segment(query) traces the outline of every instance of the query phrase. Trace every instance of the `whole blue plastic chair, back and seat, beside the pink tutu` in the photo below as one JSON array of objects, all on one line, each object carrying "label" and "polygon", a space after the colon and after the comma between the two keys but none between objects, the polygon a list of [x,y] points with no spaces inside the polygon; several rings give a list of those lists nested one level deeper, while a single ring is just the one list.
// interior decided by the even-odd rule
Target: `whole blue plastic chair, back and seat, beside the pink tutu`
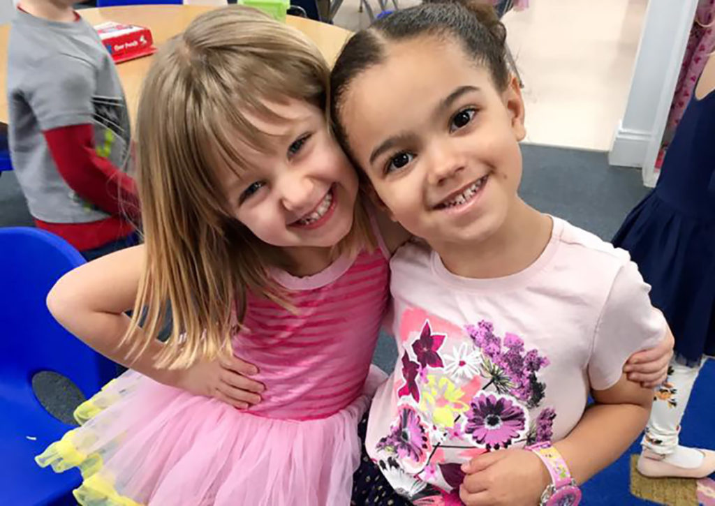
[{"label": "whole blue plastic chair, back and seat, beside the pink tutu", "polygon": [[64,239],[39,229],[0,229],[0,502],[75,504],[79,471],[41,469],[34,456],[71,429],[40,405],[32,377],[53,371],[90,397],[114,376],[114,364],[66,332],[45,298],[65,272],[84,263]]}]

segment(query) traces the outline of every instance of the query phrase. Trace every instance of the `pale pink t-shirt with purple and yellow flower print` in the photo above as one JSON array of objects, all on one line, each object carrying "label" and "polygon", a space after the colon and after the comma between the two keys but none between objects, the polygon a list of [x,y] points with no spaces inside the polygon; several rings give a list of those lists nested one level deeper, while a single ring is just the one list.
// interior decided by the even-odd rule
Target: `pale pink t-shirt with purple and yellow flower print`
[{"label": "pale pink t-shirt with purple and yellow flower print", "polygon": [[458,499],[460,465],[483,452],[563,439],[589,390],[615,385],[666,331],[628,254],[558,218],[536,262],[508,277],[455,276],[414,243],[391,268],[398,364],[366,446],[415,504]]}]

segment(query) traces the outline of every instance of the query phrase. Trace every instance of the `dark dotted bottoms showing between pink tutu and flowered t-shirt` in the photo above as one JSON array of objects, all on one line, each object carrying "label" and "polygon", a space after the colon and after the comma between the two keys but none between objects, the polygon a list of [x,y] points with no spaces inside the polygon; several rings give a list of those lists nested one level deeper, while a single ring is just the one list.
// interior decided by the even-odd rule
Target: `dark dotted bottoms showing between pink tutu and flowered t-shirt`
[{"label": "dark dotted bottoms showing between pink tutu and flowered t-shirt", "polygon": [[411,506],[412,503],[399,495],[380,471],[375,462],[370,460],[365,451],[365,432],[368,430],[368,415],[358,425],[358,435],[363,442],[360,455],[360,467],[352,475],[351,506]]}]

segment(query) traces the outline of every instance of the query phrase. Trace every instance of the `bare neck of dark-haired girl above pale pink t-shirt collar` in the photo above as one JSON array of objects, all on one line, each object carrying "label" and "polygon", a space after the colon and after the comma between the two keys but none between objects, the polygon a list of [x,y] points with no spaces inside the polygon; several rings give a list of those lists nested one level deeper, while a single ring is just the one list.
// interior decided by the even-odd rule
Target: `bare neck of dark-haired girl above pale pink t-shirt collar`
[{"label": "bare neck of dark-haired girl above pale pink t-shirt collar", "polygon": [[479,242],[433,244],[445,267],[461,277],[505,277],[529,267],[551,239],[551,218],[517,199],[504,223]]}]

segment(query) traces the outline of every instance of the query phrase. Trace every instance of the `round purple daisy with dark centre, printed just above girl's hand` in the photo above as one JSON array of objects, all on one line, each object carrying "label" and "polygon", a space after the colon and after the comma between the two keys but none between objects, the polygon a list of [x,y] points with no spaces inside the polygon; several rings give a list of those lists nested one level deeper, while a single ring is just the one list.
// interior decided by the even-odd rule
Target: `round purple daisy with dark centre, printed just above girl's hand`
[{"label": "round purple daisy with dark centre, printed just above girl's hand", "polygon": [[466,414],[465,432],[477,445],[498,450],[511,445],[526,427],[523,408],[508,397],[480,392]]}]

